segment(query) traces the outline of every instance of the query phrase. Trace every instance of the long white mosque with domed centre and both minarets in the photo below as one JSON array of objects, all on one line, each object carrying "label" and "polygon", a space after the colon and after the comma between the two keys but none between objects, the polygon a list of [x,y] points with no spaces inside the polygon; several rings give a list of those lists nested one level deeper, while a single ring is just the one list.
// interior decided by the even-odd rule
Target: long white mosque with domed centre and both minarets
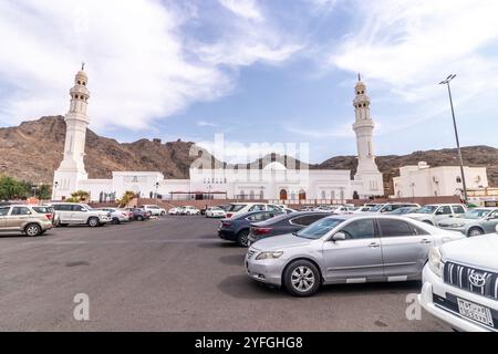
[{"label": "long white mosque with domed centre and both minarets", "polygon": [[257,170],[199,168],[193,165],[189,179],[165,179],[158,171],[115,171],[112,179],[89,179],[84,156],[90,92],[89,77],[83,70],[77,72],[71,88],[71,106],[65,115],[64,158],[54,173],[53,200],[64,200],[76,190],[87,191],[91,201],[120,198],[125,191],[134,191],[143,198],[269,199],[287,202],[344,202],[353,196],[363,199],[384,195],[383,177],[373,150],[374,122],[370,113],[370,97],[360,76],[353,102],[359,163],[354,179],[350,170],[288,168],[279,162],[270,162]]}]

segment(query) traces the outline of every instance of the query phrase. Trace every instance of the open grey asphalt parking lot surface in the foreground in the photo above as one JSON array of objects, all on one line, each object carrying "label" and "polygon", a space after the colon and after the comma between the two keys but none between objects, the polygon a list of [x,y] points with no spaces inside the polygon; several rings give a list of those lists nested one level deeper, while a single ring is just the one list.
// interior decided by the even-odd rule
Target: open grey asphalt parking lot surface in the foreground
[{"label": "open grey asphalt parking lot surface in the foreground", "polygon": [[[219,221],[166,217],[131,225],[0,237],[1,331],[448,331],[405,316],[418,282],[334,285],[297,299],[245,274],[245,250]],[[76,321],[75,294],[90,298]]]}]

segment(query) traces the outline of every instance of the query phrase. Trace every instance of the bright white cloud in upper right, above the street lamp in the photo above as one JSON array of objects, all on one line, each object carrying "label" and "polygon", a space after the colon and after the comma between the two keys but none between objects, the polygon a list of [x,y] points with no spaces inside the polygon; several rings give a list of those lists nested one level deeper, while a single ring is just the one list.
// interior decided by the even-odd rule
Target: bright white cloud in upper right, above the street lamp
[{"label": "bright white cloud in upper right, above the street lamp", "polygon": [[486,49],[498,41],[494,0],[356,1],[353,32],[329,56],[329,63],[362,72],[377,87],[387,87],[408,103],[445,94],[437,83],[459,74],[466,100],[490,83],[497,86],[498,62]]}]

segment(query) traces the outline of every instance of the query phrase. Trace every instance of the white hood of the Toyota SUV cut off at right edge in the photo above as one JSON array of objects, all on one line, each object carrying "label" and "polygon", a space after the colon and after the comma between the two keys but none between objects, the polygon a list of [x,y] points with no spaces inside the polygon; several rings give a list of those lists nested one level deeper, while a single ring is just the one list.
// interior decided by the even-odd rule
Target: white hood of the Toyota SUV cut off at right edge
[{"label": "white hood of the Toyota SUV cut off at right edge", "polygon": [[498,235],[490,233],[448,242],[440,247],[447,261],[498,271]]}]

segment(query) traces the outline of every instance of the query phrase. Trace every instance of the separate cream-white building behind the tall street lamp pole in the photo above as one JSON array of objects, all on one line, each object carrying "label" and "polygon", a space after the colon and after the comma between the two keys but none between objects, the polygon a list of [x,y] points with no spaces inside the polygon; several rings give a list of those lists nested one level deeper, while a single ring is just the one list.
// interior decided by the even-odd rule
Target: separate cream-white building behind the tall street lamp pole
[{"label": "separate cream-white building behind the tall street lamp pole", "polygon": [[[488,187],[486,167],[464,167],[467,189]],[[461,196],[463,180],[459,166],[430,167],[427,163],[400,168],[393,178],[397,198]]]}]

